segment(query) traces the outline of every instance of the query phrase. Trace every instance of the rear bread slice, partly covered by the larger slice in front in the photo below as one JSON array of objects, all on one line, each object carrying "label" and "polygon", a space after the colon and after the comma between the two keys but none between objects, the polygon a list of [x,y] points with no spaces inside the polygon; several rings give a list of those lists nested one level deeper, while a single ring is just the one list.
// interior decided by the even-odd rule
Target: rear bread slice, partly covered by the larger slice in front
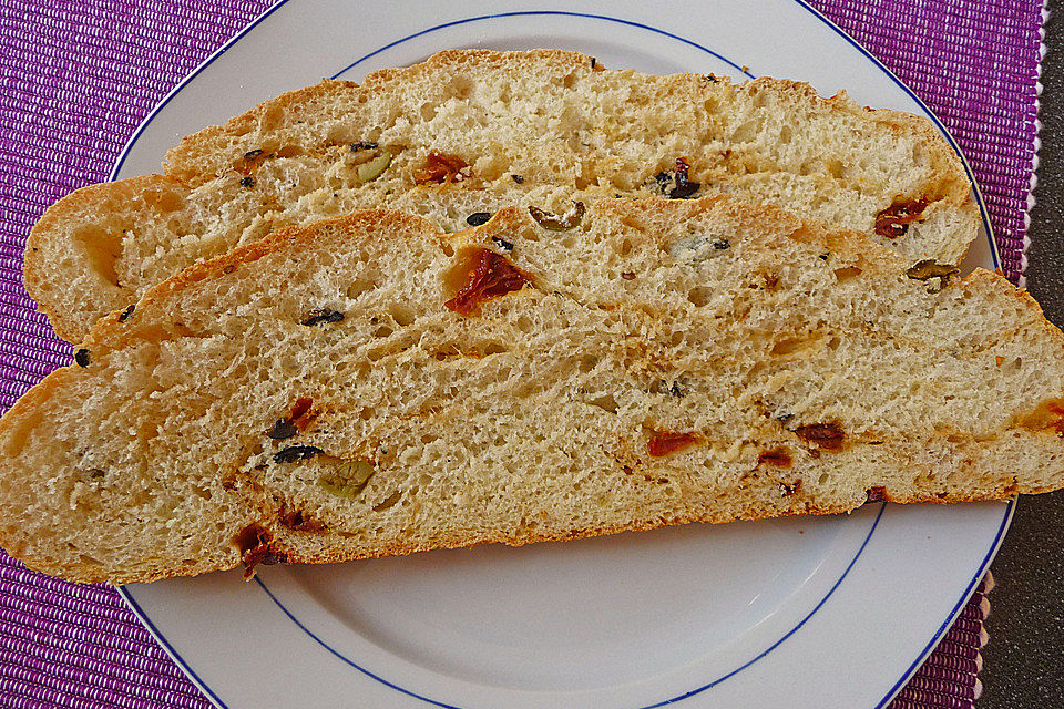
[{"label": "rear bread slice, partly covered by the larger slice in front", "polygon": [[910,261],[955,264],[978,229],[960,161],[923,119],[791,81],[456,50],[284,94],[183,140],[165,175],[73,193],[30,235],[25,284],[78,342],[152,285],[280,227],[377,207],[460,230],[509,205],[552,210],[556,187],[585,203],[735,193],[878,233]]}]

